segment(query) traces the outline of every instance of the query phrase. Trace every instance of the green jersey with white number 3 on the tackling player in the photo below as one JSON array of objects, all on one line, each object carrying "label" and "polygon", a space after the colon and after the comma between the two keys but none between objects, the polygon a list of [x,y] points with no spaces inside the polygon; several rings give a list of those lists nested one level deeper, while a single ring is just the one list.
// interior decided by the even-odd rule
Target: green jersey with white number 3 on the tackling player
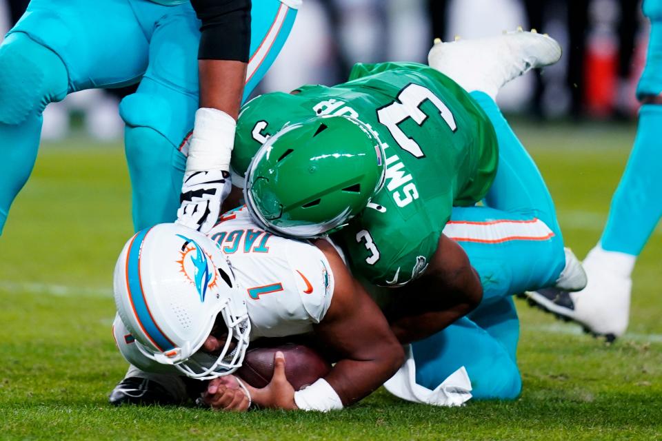
[{"label": "green jersey with white number 3 on the tackling player", "polygon": [[492,185],[498,150],[488,117],[457,83],[426,65],[357,64],[347,83],[306,85],[247,103],[237,123],[234,174],[243,176],[268,136],[316,114],[352,116],[384,146],[385,185],[334,240],[371,283],[416,278],[452,207],[474,205]]}]

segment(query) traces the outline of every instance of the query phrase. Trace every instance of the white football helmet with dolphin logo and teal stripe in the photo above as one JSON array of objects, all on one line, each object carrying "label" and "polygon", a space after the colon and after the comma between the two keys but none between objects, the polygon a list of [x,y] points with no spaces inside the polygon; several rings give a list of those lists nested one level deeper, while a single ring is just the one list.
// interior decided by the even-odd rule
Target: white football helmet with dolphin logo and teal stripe
[{"label": "white football helmet with dolphin logo and teal stripe", "polygon": [[[138,232],[117,260],[113,290],[144,356],[200,380],[241,366],[250,341],[246,305],[225,255],[204,234],[174,223]],[[221,353],[198,352],[219,323],[228,331]]]}]

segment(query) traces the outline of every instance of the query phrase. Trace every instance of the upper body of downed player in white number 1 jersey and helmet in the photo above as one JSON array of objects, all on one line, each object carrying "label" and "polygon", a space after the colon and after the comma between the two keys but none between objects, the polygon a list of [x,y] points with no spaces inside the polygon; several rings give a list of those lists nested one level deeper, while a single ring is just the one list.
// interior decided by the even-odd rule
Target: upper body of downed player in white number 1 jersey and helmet
[{"label": "upper body of downed player in white number 1 jersey and helmet", "polygon": [[[261,407],[341,409],[403,363],[387,320],[331,243],[273,236],[245,208],[208,236],[175,224],[142,230],[121,253],[114,292],[114,337],[135,367],[127,376],[172,397],[184,390],[179,376],[212,380],[205,401],[215,408],[245,410],[252,396]],[[339,356],[310,387],[295,392],[281,380],[249,393],[227,376],[251,341],[309,333]]]}]

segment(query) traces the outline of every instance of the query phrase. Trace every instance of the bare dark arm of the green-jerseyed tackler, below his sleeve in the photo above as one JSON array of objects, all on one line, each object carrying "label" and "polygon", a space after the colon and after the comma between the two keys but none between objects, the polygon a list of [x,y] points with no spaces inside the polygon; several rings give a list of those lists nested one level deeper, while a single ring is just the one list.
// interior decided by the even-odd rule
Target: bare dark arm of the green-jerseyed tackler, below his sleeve
[{"label": "bare dark arm of the green-jerseyed tackler, below his sleeve", "polygon": [[394,290],[388,312],[391,329],[405,344],[437,334],[477,307],[483,286],[456,242],[441,235],[423,277]]}]

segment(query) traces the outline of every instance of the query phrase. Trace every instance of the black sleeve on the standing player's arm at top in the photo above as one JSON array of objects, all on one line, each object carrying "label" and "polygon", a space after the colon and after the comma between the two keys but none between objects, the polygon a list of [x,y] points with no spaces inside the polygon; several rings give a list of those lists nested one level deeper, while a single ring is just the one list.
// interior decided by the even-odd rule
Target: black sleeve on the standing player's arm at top
[{"label": "black sleeve on the standing player's arm at top", "polygon": [[251,0],[191,0],[202,21],[198,59],[248,63]]}]

